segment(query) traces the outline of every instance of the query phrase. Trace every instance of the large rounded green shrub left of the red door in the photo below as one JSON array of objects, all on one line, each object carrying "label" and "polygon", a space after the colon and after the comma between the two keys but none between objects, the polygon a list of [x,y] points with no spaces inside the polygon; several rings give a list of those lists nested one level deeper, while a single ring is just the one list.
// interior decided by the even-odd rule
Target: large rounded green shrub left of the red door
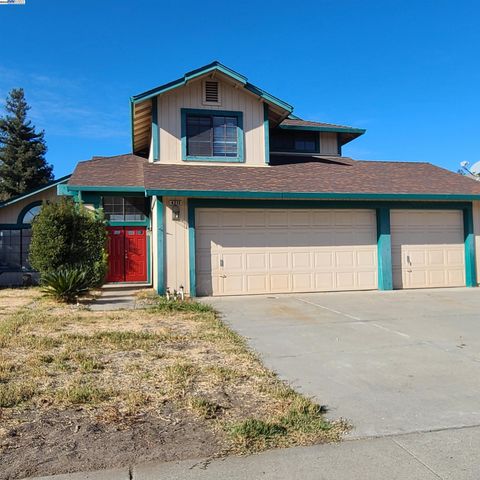
[{"label": "large rounded green shrub left of the red door", "polygon": [[58,269],[85,271],[88,286],[98,287],[107,272],[106,242],[101,212],[71,198],[45,203],[32,224],[30,264],[41,278]]}]

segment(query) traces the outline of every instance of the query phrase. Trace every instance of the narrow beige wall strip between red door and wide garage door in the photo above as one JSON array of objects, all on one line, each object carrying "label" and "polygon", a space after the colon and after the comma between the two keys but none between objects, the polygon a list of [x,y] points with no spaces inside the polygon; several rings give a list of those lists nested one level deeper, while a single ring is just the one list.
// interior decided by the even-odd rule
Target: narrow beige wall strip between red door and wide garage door
[{"label": "narrow beige wall strip between red door and wide garage door", "polygon": [[[173,220],[170,201],[181,201],[180,219]],[[165,197],[165,287],[171,291],[181,285],[190,292],[188,265],[188,200],[181,197]]]}]

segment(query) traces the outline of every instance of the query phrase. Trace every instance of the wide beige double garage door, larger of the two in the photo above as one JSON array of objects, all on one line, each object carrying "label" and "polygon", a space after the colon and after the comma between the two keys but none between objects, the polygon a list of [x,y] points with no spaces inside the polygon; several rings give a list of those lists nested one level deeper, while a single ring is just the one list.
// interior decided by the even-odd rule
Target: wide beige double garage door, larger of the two
[{"label": "wide beige double garage door, larger of the two", "polygon": [[197,209],[198,295],[377,288],[374,210]]}]

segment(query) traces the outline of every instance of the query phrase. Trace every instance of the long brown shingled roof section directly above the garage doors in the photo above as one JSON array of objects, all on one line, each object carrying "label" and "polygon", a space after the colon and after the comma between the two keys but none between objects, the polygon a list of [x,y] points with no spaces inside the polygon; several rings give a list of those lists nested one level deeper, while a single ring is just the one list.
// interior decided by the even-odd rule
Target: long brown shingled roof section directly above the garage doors
[{"label": "long brown shingled roof section directly above the garage doors", "polygon": [[145,186],[147,190],[480,195],[480,182],[430,163],[305,160],[272,167],[149,164]]}]

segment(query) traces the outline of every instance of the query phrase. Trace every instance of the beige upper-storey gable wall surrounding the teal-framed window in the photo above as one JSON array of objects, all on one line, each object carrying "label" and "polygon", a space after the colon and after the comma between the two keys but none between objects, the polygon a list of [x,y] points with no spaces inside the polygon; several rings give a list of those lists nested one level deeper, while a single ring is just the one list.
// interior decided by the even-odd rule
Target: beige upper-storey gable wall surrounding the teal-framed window
[{"label": "beige upper-storey gable wall surrounding the teal-framed window", "polygon": [[[221,105],[202,103],[203,80],[157,97],[160,139],[160,162],[185,163],[181,149],[181,109],[231,110],[243,112],[245,163],[237,165],[265,165],[265,137],[263,128],[263,102],[243,89],[220,82]],[[204,162],[190,162],[202,164]],[[222,162],[223,163],[223,162]],[[216,164],[222,164],[216,162]],[[211,162],[206,162],[211,165]],[[227,163],[232,165],[232,163]]]}]

